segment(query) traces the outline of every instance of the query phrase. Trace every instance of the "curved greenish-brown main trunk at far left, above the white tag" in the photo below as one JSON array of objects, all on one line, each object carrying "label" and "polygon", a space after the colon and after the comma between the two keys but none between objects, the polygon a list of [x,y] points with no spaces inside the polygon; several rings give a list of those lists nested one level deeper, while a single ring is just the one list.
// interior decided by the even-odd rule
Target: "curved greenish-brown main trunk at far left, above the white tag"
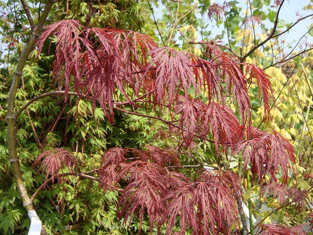
[{"label": "curved greenish-brown main trunk at far left, above the white tag", "polygon": [[[21,195],[22,203],[27,211],[27,213],[30,213],[31,211],[34,211],[33,204],[31,203],[28,193],[26,191],[26,188],[23,185],[22,180],[22,173],[20,169],[20,162],[19,158],[17,156],[17,148],[16,148],[16,116],[14,113],[15,109],[15,96],[21,81],[22,72],[25,67],[25,63],[27,61],[27,57],[29,53],[33,50],[36,40],[38,36],[41,33],[41,30],[45,24],[45,19],[47,18],[52,5],[54,4],[53,0],[48,0],[44,12],[42,14],[42,17],[40,18],[38,25],[36,28],[32,31],[32,35],[26,44],[20,60],[18,62],[16,71],[14,73],[13,81],[11,84],[10,92],[8,95],[8,108],[7,108],[7,122],[8,122],[8,151],[9,151],[9,162],[11,164],[11,169],[13,172],[14,180],[17,184],[17,188],[19,190],[19,193]],[[45,230],[42,230],[43,234],[45,233]]]}]

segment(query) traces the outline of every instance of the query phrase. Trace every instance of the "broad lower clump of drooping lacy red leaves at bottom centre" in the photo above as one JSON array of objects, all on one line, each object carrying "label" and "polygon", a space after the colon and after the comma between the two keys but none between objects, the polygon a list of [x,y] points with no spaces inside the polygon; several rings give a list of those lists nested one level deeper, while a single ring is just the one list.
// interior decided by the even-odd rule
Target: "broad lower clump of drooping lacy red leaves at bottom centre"
[{"label": "broad lower clump of drooping lacy red leaves at bottom centre", "polygon": [[166,222],[166,234],[171,234],[178,217],[181,235],[188,228],[194,229],[193,234],[204,235],[230,233],[230,224],[238,226],[238,209],[233,196],[241,193],[242,182],[238,175],[229,171],[203,171],[191,180],[169,171],[165,163],[179,163],[179,160],[169,150],[156,146],[147,150],[113,148],[106,152],[98,172],[104,188],[127,181],[118,202],[118,216],[132,218],[136,213],[141,227],[147,212],[151,233],[154,222],[158,230]]}]

